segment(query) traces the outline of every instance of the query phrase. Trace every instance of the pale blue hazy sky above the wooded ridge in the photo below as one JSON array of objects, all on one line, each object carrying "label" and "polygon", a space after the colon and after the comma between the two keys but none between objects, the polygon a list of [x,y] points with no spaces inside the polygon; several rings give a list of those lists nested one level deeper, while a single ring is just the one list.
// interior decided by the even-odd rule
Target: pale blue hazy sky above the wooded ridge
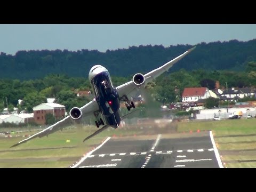
[{"label": "pale blue hazy sky above the wooded ridge", "polygon": [[0,24],[0,52],[106,50],[129,46],[249,41],[256,24]]}]

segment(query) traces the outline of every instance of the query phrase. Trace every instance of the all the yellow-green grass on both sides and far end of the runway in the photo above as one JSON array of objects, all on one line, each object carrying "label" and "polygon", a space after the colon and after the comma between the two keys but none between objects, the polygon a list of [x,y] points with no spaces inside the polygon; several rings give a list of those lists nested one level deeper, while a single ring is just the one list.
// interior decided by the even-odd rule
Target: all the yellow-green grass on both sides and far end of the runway
[{"label": "all the yellow-green grass on both sides and far end of the runway", "polygon": [[[83,139],[97,130],[94,126],[79,127],[58,131],[49,137],[36,138],[20,146],[10,148],[18,141],[24,139],[15,137],[0,138],[0,167],[68,167],[83,154],[98,146],[108,136],[126,136],[134,134],[157,134],[165,131],[158,128],[149,129],[147,126],[129,127],[130,129],[112,129],[101,132],[97,136],[83,142]],[[212,130],[214,140],[218,143],[220,155],[227,167],[256,167],[256,119],[228,119],[205,122],[179,122],[171,123],[167,129],[178,132],[197,130]],[[32,135],[36,132],[23,132],[20,135]],[[235,136],[235,137],[234,137]],[[69,140],[70,142],[67,142]],[[234,150],[254,149],[246,153],[233,153]],[[253,162],[255,160],[255,162]]]}]

